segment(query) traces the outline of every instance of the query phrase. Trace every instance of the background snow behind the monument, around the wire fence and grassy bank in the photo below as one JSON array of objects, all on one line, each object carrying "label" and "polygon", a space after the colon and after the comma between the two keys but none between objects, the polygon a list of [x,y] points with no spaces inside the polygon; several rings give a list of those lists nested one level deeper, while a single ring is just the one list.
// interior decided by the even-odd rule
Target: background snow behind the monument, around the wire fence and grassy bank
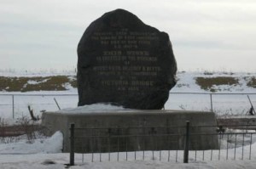
[{"label": "background snow behind the monument, around the wire fence and grassy bank", "polygon": [[[2,73],[3,74],[3,73]],[[1,75],[1,74],[0,74]],[[60,74],[57,74],[60,75]],[[68,74],[72,76],[73,74]],[[6,74],[5,76],[55,76],[52,74]],[[253,104],[256,104],[256,90],[247,86],[246,78],[256,77],[256,73],[177,73],[177,85],[172,88],[169,99],[166,102],[167,110],[211,110],[211,95],[209,91],[201,89],[195,83],[196,77],[230,76],[239,80],[239,85],[221,85],[214,87],[217,92],[212,93],[212,110],[218,115],[245,115],[251,105],[247,94]],[[194,94],[189,94],[194,93]],[[201,94],[207,93],[207,94]],[[224,94],[228,93],[228,94]],[[234,93],[238,93],[234,95]],[[246,93],[246,94],[242,94]],[[13,100],[14,99],[14,100]],[[29,115],[27,106],[30,105],[35,115],[41,115],[44,110],[58,110],[55,100],[61,109],[74,108],[79,98],[77,89],[68,87],[67,91],[35,91],[35,92],[0,92],[0,115],[5,119],[18,118]],[[13,108],[14,102],[14,108]],[[14,109],[14,111],[13,111]],[[14,113],[14,115],[13,115]]]}]

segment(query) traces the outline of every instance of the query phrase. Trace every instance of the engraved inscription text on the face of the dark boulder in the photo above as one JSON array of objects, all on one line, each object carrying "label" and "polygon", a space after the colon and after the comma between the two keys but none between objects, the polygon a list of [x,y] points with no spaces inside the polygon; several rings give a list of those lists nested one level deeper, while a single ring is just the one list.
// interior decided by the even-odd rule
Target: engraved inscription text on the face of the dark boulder
[{"label": "engraved inscription text on the face of the dark boulder", "polygon": [[115,87],[119,91],[139,91],[145,87],[154,87],[154,79],[161,69],[157,65],[158,58],[150,54],[148,47],[158,39],[152,32],[125,29],[94,32],[91,41],[99,43],[102,48],[108,48],[96,56],[96,65],[93,67],[96,75],[102,77],[102,87]]}]

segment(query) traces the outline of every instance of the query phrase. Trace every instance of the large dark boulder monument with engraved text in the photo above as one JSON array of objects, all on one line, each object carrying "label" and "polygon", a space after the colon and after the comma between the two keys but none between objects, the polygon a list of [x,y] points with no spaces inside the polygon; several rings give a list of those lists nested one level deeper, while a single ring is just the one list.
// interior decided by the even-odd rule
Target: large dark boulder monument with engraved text
[{"label": "large dark boulder monument with engraved text", "polygon": [[89,25],[78,56],[79,106],[109,103],[160,110],[176,84],[169,36],[124,9]]}]

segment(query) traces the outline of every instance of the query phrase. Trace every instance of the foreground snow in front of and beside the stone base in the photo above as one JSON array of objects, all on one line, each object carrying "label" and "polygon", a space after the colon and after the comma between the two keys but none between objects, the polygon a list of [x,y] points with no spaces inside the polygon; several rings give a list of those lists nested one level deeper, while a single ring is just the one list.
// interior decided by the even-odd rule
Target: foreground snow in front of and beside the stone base
[{"label": "foreground snow in front of and beside the stone base", "polygon": [[[229,131],[241,132],[241,131]],[[183,164],[183,151],[145,151],[126,153],[104,154],[75,154],[75,166],[73,169],[82,168],[247,168],[253,169],[256,165],[256,137],[254,131],[251,134],[237,135],[235,138],[221,139],[221,149],[205,151],[189,151],[189,164]],[[0,144],[0,168],[1,169],[40,169],[40,168],[65,168],[69,163],[69,154],[61,153],[61,132],[55,132],[50,138],[38,138],[30,142],[20,139],[17,143]],[[233,143],[234,140],[237,143]],[[241,140],[245,140],[245,146],[241,146]],[[227,149],[227,147],[229,149]],[[235,148],[236,147],[236,148]],[[251,150],[250,150],[251,149]],[[101,156],[101,158],[100,158]],[[110,161],[108,160],[110,156]],[[144,156],[144,157],[143,157]],[[119,157],[119,159],[118,159]],[[135,158],[137,159],[135,161]],[[101,161],[100,161],[101,159]]]}]

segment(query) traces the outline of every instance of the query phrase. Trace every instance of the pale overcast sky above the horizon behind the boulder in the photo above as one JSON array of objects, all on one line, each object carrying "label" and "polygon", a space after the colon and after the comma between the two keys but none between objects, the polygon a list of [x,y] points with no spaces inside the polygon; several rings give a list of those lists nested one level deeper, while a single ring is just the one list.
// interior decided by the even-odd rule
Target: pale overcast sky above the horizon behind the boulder
[{"label": "pale overcast sky above the horizon behind the boulder", "polygon": [[68,70],[90,22],[116,8],[166,31],[178,70],[256,70],[255,0],[0,0],[0,70]]}]

